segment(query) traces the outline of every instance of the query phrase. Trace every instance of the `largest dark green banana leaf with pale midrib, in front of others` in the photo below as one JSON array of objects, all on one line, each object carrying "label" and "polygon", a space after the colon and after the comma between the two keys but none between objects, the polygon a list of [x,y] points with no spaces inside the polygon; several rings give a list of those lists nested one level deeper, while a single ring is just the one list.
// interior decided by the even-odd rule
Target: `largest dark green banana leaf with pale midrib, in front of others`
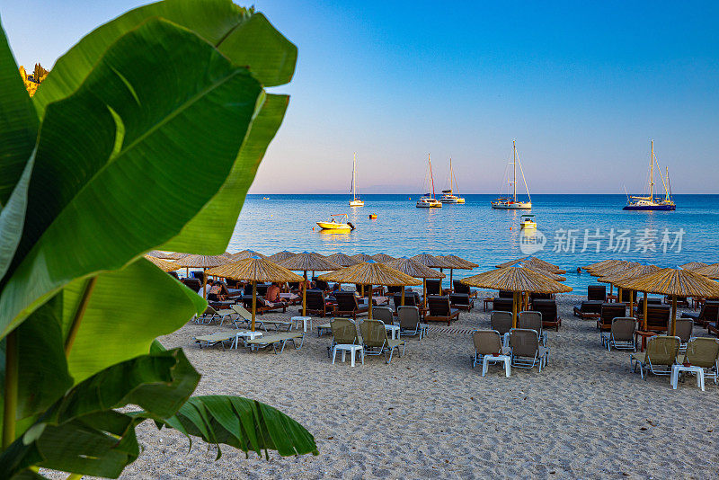
[{"label": "largest dark green banana leaf with pale midrib, in front of others", "polygon": [[225,183],[261,93],[246,69],[170,22],[149,20],[108,49],[43,120],[2,335],[68,282],[176,236]]}]

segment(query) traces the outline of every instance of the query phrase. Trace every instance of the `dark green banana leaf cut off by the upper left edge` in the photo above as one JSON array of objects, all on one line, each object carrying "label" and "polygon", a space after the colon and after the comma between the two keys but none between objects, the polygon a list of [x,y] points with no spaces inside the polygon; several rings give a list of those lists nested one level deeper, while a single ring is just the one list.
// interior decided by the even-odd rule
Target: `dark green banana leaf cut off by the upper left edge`
[{"label": "dark green banana leaf cut off by the upper left edge", "polygon": [[[15,190],[37,136],[38,116],[0,26],[0,209]],[[0,235],[4,236],[3,228]]]}]

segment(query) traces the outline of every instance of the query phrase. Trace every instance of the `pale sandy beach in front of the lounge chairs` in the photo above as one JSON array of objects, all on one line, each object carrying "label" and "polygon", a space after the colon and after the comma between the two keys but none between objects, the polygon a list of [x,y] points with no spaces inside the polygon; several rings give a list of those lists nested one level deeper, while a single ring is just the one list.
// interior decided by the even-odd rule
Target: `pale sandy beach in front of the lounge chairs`
[{"label": "pale sandy beach in front of the lounge chairs", "polygon": [[[482,294],[480,294],[480,298]],[[123,478],[707,478],[715,460],[719,387],[694,378],[672,390],[644,381],[626,351],[599,344],[593,320],[572,315],[580,297],[558,296],[563,319],[549,333],[550,362],[537,369],[471,368],[467,330],[488,328],[479,305],[451,327],[408,339],[387,365],[368,357],[332,365],[331,336],[307,333],[280,355],[198,348],[194,335],[234,329],[187,324],[160,340],[183,347],[202,374],[197,395],[247,396],[301,422],[320,455],[257,458],[190,442],[174,431],[138,429],[145,451]],[[296,312],[296,309],[292,309]],[[297,314],[295,314],[297,315]],[[265,318],[289,317],[266,314]],[[317,319],[315,319],[316,322]],[[695,335],[706,330],[695,327]]]}]

